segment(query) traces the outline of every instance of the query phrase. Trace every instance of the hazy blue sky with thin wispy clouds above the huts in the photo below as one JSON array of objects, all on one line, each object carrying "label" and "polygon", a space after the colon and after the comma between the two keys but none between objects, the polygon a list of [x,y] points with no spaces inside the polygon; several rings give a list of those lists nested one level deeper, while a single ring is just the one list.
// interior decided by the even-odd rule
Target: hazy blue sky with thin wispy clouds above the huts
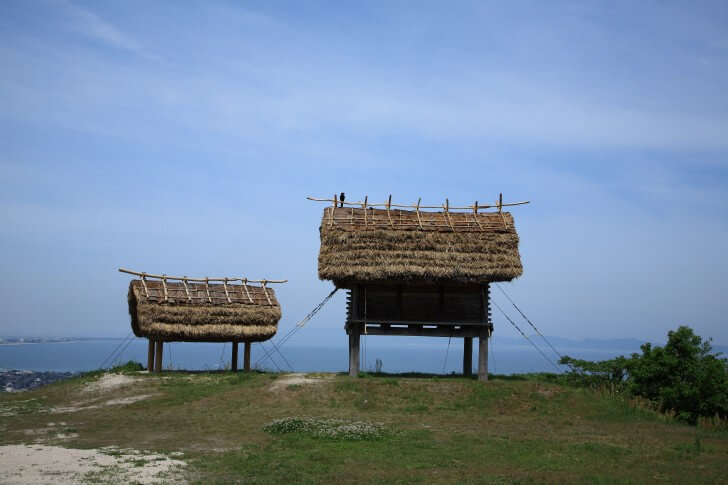
[{"label": "hazy blue sky with thin wispy clouds above the huts", "polygon": [[[728,342],[727,26],[725,2],[4,1],[0,334],[126,335],[120,266],[288,278],[285,331],[331,288],[306,196],[503,192],[532,201],[505,288],[544,333]],[[343,318],[311,325],[343,345]]]}]

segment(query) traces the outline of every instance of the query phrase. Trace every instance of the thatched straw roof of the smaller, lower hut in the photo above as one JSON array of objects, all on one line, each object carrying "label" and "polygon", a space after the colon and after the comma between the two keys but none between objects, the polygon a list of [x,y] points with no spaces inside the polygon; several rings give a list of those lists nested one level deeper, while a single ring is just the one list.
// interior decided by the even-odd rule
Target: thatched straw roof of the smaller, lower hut
[{"label": "thatched straw roof of the smaller, lower hut", "polygon": [[270,288],[189,282],[186,287],[133,280],[128,299],[134,334],[165,342],[260,342],[278,330],[281,307]]}]

